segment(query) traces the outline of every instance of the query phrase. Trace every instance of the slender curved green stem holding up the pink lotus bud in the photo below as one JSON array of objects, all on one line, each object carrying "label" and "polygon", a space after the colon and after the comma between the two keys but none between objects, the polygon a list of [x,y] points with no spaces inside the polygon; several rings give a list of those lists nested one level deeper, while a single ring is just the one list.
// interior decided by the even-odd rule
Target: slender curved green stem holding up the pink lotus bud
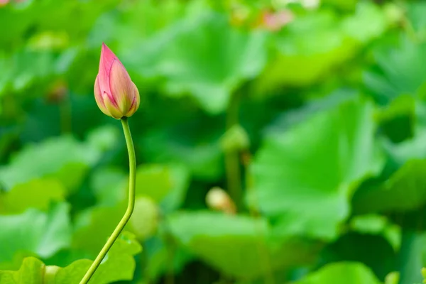
[{"label": "slender curved green stem holding up the pink lotus bud", "polygon": [[99,264],[102,262],[104,257],[107,255],[109,249],[114,244],[114,241],[119,237],[121,231],[126,226],[127,222],[133,213],[133,208],[135,207],[135,192],[136,192],[136,155],[135,148],[133,146],[133,140],[131,138],[131,133],[129,129],[129,123],[127,121],[127,117],[123,117],[121,119],[121,124],[123,124],[124,137],[126,138],[127,151],[129,152],[129,204],[127,205],[126,213],[124,213],[123,218],[114,229],[114,232],[109,237],[107,243],[102,248],[101,252],[99,252],[97,258],[90,266],[84,278],[81,280],[80,284],[87,284],[92,278],[94,272],[99,267]]}]

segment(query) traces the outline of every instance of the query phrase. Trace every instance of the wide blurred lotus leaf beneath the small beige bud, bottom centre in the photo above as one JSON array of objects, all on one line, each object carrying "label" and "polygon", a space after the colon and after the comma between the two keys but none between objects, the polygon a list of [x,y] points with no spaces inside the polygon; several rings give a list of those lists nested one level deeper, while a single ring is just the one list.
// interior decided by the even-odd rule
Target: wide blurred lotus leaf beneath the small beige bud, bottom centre
[{"label": "wide blurred lotus leaf beneath the small beige bud, bottom centre", "polygon": [[167,226],[195,256],[226,275],[241,279],[310,263],[317,251],[314,244],[303,239],[274,239],[265,219],[178,212],[168,218]]}]

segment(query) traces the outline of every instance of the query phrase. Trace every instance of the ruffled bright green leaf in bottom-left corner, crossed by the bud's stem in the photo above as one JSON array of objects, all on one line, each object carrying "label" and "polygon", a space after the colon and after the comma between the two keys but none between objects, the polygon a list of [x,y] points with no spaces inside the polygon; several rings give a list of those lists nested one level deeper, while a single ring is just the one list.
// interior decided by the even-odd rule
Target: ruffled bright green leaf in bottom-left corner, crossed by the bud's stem
[{"label": "ruffled bright green leaf in bottom-left corner, crossed by the bud's stem", "polygon": [[[94,273],[90,283],[107,284],[119,280],[131,280],[136,263],[133,258],[141,251],[141,246],[133,236],[124,232],[116,240],[104,261]],[[80,259],[65,268],[45,266],[37,258],[23,260],[18,271],[0,271],[1,284],[65,284],[80,283],[92,261]]]}]

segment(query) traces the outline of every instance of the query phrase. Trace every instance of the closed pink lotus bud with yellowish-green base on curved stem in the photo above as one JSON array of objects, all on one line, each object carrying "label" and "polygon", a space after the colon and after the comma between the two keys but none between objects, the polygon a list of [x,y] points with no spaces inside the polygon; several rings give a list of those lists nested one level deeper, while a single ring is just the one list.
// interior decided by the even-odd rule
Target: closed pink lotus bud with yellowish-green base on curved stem
[{"label": "closed pink lotus bud with yellowish-green base on curved stem", "polygon": [[132,116],[139,107],[139,92],[119,58],[102,43],[99,73],[94,81],[94,98],[107,116]]}]

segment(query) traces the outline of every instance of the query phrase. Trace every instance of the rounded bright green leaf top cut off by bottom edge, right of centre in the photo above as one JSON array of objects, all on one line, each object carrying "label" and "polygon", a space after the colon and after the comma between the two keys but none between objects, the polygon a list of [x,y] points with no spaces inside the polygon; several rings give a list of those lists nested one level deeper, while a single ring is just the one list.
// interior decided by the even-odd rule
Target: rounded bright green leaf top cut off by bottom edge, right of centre
[{"label": "rounded bright green leaf top cut off by bottom edge, right of centre", "polygon": [[362,263],[351,262],[328,264],[319,271],[310,273],[302,280],[295,282],[295,284],[324,283],[381,284],[367,266]]}]

